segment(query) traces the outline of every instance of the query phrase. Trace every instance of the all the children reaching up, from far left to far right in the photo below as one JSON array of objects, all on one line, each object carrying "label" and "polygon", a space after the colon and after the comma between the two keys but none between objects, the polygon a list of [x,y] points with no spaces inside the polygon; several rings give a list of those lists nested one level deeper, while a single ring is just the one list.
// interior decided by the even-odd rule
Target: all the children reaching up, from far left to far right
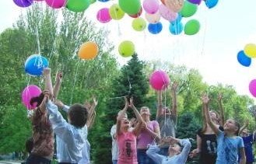
[{"label": "all the children reaching up, from far left to far right", "polygon": [[[96,117],[93,104],[75,103],[65,106],[57,100],[62,74],[56,75],[54,87],[51,82],[51,69],[44,68],[45,90],[40,96],[31,99],[30,103],[37,103],[33,110],[31,122],[33,138],[27,144],[31,148],[27,164],[48,164],[54,155],[54,134],[56,134],[57,159],[60,164],[89,164],[88,129],[92,127]],[[158,109],[156,120],[150,120],[150,110],[142,106],[138,111],[133,99],[124,97],[124,109],[117,113],[117,124],[110,131],[112,136],[113,164],[154,164],[177,163],[184,164],[188,155],[194,157],[200,154],[200,163],[252,163],[246,160],[244,147],[252,144],[253,135],[247,135],[244,127],[235,120],[226,120],[224,124],[221,96],[219,106],[221,115],[209,111],[209,97],[202,96],[204,125],[197,134],[197,148],[191,151],[189,139],[175,138],[177,131],[177,83],[171,87],[172,110],[163,106],[162,92],[158,92]],[[58,108],[68,113],[65,120]],[[131,109],[136,120],[128,120],[127,110]],[[238,136],[242,134],[244,138]],[[244,139],[244,141],[243,141]],[[249,150],[252,154],[252,150]],[[250,154],[247,153],[247,154]],[[238,159],[239,156],[239,159]]]}]

